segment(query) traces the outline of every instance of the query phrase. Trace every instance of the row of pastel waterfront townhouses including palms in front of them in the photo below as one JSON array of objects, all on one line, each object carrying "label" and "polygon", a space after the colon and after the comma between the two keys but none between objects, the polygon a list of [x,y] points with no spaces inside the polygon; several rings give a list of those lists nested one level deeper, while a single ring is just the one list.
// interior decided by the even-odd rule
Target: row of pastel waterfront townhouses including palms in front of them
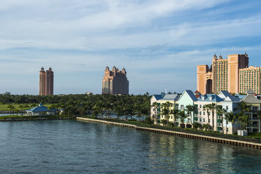
[{"label": "row of pastel waterfront townhouses including palms in front of them", "polygon": [[[231,95],[228,91],[202,95],[186,90],[177,94],[153,95],[150,99],[150,117],[155,123],[173,123],[175,126],[192,128],[204,126],[206,129],[226,134],[245,129],[248,133],[260,133],[261,100],[253,90],[246,95]],[[242,109],[247,116],[246,125],[235,115]],[[167,122],[167,123],[166,123]],[[168,125],[167,125],[168,126]]]}]

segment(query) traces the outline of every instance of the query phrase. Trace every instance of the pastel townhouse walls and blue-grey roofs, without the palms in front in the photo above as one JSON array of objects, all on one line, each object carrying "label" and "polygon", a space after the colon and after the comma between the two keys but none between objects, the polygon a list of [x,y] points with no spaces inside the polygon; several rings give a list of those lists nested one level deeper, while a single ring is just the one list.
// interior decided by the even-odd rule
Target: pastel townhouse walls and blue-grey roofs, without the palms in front
[{"label": "pastel townhouse walls and blue-grey roofs, without the palms in front", "polygon": [[[231,95],[227,91],[220,91],[218,95],[216,94],[206,94],[206,95],[195,95],[192,91],[186,90],[181,96],[176,94],[166,94],[166,95],[153,95],[150,102],[157,102],[157,119],[165,119],[162,113],[162,104],[164,102],[170,102],[171,107],[169,109],[178,109],[179,111],[184,110],[186,113],[186,106],[194,105],[195,111],[192,112],[191,116],[185,119],[185,124],[200,123],[200,124],[209,124],[210,128],[213,131],[223,131],[225,134],[237,133],[237,130],[240,129],[240,124],[237,123],[237,120],[234,123],[225,120],[225,114],[217,114],[217,109],[206,109],[205,105],[212,105],[218,108],[225,109],[226,112],[233,112],[237,114],[239,102],[246,102],[251,111],[246,113],[249,115],[250,124],[247,127],[249,133],[261,132],[261,123],[258,119],[257,112],[261,110],[261,100],[255,96],[255,92],[252,90],[247,91],[247,95]],[[153,107],[151,107],[151,112],[154,113]],[[151,114],[153,114],[151,113]],[[213,114],[213,115],[212,115]],[[223,117],[223,121],[222,121]],[[170,122],[178,121],[178,125],[181,123],[181,120],[174,120],[173,114],[169,116]],[[213,126],[213,127],[212,127]]]}]

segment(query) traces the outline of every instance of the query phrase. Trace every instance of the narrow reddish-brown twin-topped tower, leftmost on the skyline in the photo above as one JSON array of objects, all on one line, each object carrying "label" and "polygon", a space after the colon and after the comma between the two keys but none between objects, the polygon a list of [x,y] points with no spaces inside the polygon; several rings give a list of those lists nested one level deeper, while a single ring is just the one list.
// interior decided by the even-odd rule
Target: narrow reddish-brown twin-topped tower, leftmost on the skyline
[{"label": "narrow reddish-brown twin-topped tower, leftmost on the skyline", "polygon": [[39,95],[53,95],[53,72],[51,67],[46,71],[41,67],[39,73]]}]

